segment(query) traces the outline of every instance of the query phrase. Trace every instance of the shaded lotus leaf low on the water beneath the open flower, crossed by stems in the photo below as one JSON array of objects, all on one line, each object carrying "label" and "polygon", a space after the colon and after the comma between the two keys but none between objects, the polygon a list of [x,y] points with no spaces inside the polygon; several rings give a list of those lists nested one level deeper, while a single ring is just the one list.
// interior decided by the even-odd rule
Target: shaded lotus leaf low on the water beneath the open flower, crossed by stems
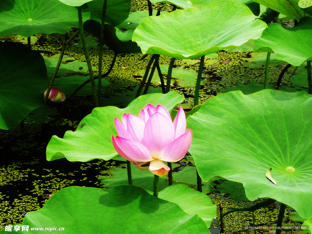
[{"label": "shaded lotus leaf low on the water beneath the open flower, crossed by stems", "polygon": [[[120,156],[114,159],[120,160]],[[125,160],[124,158],[122,158]],[[180,168],[181,165],[177,163],[172,163],[172,168],[176,171],[176,168]],[[183,166],[182,166],[183,167]],[[131,163],[131,174],[133,185],[143,188],[145,190],[153,191],[153,181],[154,174],[150,170],[139,170],[136,168],[133,163]],[[178,170],[172,174],[173,184],[185,184],[190,188],[196,188],[196,167],[184,166],[183,169]],[[110,169],[102,171],[102,174],[98,178],[101,181],[101,184],[105,188],[113,188],[118,185],[129,184],[126,164],[120,164],[119,166],[112,166]],[[167,177],[163,176],[159,178],[158,189],[163,190],[168,186]],[[207,183],[203,183],[202,186],[203,193],[212,193],[214,190],[212,186]]]}]

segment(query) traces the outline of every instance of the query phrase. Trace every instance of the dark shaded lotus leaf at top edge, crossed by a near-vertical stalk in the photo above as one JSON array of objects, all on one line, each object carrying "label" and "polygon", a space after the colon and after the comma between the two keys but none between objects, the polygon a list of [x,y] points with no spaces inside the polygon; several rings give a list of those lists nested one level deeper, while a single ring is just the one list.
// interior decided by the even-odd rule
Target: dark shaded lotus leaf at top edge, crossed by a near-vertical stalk
[{"label": "dark shaded lotus leaf at top edge, crossed by a near-vertical stalk", "polygon": [[[104,0],[89,2],[87,5],[90,10],[90,19],[102,22]],[[130,0],[107,1],[105,22],[117,26],[128,18],[130,12]]]}]

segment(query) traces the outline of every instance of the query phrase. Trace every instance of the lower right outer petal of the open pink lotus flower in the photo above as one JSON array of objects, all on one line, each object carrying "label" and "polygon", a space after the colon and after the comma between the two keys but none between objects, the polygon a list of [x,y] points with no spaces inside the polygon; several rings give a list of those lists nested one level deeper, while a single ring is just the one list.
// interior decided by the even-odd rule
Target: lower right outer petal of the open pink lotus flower
[{"label": "lower right outer petal of the open pink lotus flower", "polygon": [[161,160],[172,163],[181,160],[191,147],[192,135],[192,130],[188,129],[186,133],[171,142],[164,150]]}]

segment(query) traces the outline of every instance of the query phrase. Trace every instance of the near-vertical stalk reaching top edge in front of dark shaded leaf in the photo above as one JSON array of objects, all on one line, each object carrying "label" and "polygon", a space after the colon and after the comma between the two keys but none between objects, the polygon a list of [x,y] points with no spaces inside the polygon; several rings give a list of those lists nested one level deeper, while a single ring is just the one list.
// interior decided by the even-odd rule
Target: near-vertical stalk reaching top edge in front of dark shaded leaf
[{"label": "near-vertical stalk reaching top edge in front of dark shaded leaf", "polygon": [[101,36],[100,36],[100,49],[99,49],[99,80],[98,80],[98,102],[101,106],[101,87],[102,87],[102,58],[104,46],[104,29],[105,29],[105,15],[106,15],[107,0],[104,0],[102,21],[101,21]]}]

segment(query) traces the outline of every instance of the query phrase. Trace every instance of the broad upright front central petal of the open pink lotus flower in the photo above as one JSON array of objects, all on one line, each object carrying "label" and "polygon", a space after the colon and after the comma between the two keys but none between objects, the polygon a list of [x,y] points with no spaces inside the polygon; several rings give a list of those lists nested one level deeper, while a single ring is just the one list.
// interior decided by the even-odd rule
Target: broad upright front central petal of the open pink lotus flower
[{"label": "broad upright front central petal of the open pink lotus flower", "polygon": [[149,150],[153,158],[161,158],[163,150],[173,140],[173,123],[163,114],[156,112],[145,124],[142,143]]}]

